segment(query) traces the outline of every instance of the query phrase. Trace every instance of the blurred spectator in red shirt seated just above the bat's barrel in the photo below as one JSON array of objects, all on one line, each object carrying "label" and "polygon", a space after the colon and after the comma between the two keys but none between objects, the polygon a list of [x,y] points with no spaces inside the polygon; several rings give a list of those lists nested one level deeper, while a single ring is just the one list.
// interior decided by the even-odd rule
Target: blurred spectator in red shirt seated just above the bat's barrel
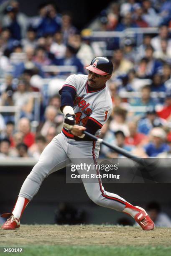
[{"label": "blurred spectator in red shirt seated just above the bat's barrel", "polygon": [[125,138],[126,145],[143,146],[148,142],[147,136],[145,136],[143,133],[138,133],[137,123],[130,121],[128,123],[128,128],[130,135]]}]

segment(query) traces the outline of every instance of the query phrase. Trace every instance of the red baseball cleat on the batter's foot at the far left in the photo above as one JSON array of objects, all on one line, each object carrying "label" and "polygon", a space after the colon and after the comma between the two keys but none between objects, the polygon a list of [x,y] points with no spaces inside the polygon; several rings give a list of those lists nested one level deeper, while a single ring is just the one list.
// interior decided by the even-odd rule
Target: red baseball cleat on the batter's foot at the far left
[{"label": "red baseball cleat on the batter's foot at the far left", "polygon": [[3,229],[15,229],[20,228],[20,220],[14,217],[12,213],[4,213],[1,215],[3,218],[8,218],[7,221],[2,225]]}]

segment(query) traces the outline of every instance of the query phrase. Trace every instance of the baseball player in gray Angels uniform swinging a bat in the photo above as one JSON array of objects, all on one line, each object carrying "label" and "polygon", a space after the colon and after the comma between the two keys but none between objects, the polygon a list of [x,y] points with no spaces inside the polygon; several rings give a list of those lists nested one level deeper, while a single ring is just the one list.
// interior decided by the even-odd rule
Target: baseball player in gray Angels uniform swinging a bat
[{"label": "baseball player in gray Angels uniform swinging a bat", "polygon": [[[106,57],[96,57],[85,67],[88,75],[70,75],[62,89],[61,110],[64,113],[64,126],[61,133],[53,138],[42,152],[37,164],[21,187],[18,200],[3,229],[20,227],[20,218],[28,203],[38,192],[43,180],[49,174],[66,166],[66,160],[98,158],[100,145],[92,141],[83,131],[95,136],[100,134],[102,125],[112,112],[112,100],[106,82],[110,79],[113,64]],[[97,205],[108,207],[132,216],[143,230],[152,230],[154,223],[145,210],[133,206],[119,195],[105,191],[101,180],[96,183],[84,183],[87,195]]]}]

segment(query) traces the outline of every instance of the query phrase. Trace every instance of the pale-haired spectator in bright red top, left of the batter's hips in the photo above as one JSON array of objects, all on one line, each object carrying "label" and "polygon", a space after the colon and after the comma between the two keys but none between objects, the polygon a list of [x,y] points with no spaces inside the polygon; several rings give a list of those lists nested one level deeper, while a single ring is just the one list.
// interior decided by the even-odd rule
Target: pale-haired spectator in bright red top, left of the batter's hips
[{"label": "pale-haired spectator in bright red top, left of the batter's hips", "polygon": [[28,148],[33,145],[35,141],[35,135],[31,133],[31,125],[28,118],[21,118],[18,123],[19,131],[23,133],[23,142]]}]

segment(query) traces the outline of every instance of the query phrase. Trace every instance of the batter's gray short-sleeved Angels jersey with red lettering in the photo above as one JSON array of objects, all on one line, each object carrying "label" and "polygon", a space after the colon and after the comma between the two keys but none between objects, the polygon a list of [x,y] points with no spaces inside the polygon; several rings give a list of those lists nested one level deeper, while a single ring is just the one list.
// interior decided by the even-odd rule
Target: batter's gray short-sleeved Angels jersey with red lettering
[{"label": "batter's gray short-sleeved Angels jersey with red lettering", "polygon": [[[65,86],[72,87],[76,91],[74,113],[77,125],[85,126],[87,120],[91,119],[101,128],[112,112],[112,99],[106,85],[92,91],[88,87],[87,75],[73,74],[66,79],[63,87]],[[63,133],[68,135],[64,129]],[[100,135],[100,129],[95,135]]]}]

